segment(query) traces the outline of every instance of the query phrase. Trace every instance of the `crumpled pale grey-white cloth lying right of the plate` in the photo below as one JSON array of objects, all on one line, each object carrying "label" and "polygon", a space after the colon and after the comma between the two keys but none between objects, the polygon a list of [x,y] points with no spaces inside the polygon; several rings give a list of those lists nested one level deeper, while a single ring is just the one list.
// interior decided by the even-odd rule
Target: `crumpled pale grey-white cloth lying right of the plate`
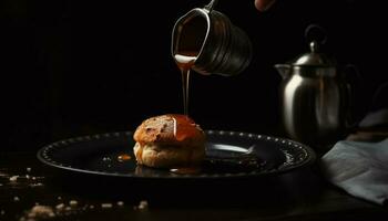
[{"label": "crumpled pale grey-white cloth lying right of the plate", "polygon": [[321,158],[326,178],[348,193],[388,202],[388,138],[379,143],[338,141]]}]

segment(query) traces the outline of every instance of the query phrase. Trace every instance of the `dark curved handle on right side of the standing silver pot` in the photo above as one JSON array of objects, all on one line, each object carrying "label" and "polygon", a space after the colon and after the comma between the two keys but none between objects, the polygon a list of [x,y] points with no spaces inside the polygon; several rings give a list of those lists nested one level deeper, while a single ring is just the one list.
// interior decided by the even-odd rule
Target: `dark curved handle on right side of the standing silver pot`
[{"label": "dark curved handle on right side of the standing silver pot", "polygon": [[[360,105],[360,92],[363,85],[363,77],[358,67],[354,64],[347,64],[344,67],[343,81],[345,82],[346,98],[346,120],[345,126],[347,130],[354,131],[358,127],[358,123],[366,114],[366,105]],[[364,102],[364,101],[363,101]],[[360,109],[363,108],[363,109]]]}]

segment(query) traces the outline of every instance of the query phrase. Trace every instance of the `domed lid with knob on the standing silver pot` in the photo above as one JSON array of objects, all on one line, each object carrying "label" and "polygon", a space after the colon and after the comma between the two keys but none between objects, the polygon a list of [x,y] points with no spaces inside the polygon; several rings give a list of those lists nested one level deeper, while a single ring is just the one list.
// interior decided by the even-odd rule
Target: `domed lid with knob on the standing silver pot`
[{"label": "domed lid with knob on the standing silver pot", "polygon": [[297,66],[334,66],[335,61],[324,53],[319,52],[319,45],[317,41],[309,43],[310,52],[297,57],[293,65]]}]

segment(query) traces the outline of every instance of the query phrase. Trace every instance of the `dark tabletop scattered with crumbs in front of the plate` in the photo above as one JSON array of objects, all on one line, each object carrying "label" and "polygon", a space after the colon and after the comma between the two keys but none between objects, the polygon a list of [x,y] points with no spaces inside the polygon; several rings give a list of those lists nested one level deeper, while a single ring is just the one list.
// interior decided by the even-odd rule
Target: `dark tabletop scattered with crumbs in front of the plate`
[{"label": "dark tabletop scattered with crumbs in front of the plate", "polygon": [[1,154],[0,220],[44,220],[31,214],[35,204],[52,209],[45,213],[49,220],[355,221],[386,220],[388,214],[388,208],[327,183],[318,161],[261,179],[133,185],[59,175],[35,152]]}]

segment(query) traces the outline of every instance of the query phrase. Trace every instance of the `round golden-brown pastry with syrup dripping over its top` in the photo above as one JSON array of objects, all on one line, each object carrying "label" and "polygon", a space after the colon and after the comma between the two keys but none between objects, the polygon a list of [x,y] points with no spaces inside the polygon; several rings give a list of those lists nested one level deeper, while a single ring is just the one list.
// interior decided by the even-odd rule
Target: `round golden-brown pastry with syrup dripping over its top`
[{"label": "round golden-brown pastry with syrup dripping over its top", "polygon": [[136,161],[154,168],[193,167],[205,157],[206,136],[186,115],[167,114],[143,120],[134,135]]}]

